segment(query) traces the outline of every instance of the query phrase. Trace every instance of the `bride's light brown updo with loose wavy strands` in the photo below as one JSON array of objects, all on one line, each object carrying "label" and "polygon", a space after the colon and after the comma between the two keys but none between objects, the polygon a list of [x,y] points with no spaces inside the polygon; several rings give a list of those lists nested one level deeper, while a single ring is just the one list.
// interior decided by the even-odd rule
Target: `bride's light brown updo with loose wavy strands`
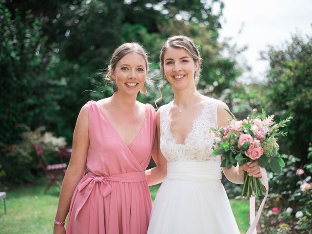
[{"label": "bride's light brown updo with loose wavy strands", "polygon": [[160,101],[162,99],[162,94],[160,91],[160,88],[164,86],[165,84],[165,72],[164,72],[164,57],[165,53],[169,48],[177,48],[177,49],[184,49],[186,52],[192,57],[194,62],[197,60],[199,61],[199,67],[198,70],[194,74],[194,79],[195,83],[197,84],[200,78],[200,73],[201,73],[201,56],[199,50],[196,48],[195,43],[192,39],[186,36],[172,36],[166,40],[166,42],[163,44],[161,50],[160,50],[160,55],[159,55],[159,67],[161,71],[161,76],[162,76],[162,83],[158,86],[158,90],[160,92],[160,98],[158,98],[157,101]]}]

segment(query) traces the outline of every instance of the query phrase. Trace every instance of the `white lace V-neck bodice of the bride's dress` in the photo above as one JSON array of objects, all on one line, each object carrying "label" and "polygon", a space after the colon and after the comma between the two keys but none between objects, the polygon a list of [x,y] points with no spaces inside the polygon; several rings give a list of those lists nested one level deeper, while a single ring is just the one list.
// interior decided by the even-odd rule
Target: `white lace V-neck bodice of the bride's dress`
[{"label": "white lace V-neck bodice of the bride's dress", "polygon": [[185,137],[184,144],[177,144],[170,131],[172,102],[160,110],[160,150],[168,162],[207,161],[220,162],[220,156],[212,156],[214,136],[211,128],[217,127],[216,108],[218,100],[209,98],[204,102],[200,115],[193,122],[193,129]]}]

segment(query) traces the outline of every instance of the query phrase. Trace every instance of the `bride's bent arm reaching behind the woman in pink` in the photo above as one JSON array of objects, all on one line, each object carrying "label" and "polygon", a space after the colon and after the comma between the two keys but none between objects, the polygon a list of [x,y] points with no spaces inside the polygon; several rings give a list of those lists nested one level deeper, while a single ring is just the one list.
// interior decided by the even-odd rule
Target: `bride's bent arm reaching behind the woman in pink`
[{"label": "bride's bent arm reaching behind the woman in pink", "polygon": [[160,109],[156,113],[156,136],[152,151],[152,157],[156,163],[156,167],[146,170],[145,176],[149,186],[161,183],[167,175],[167,160],[161,154],[160,145]]}]

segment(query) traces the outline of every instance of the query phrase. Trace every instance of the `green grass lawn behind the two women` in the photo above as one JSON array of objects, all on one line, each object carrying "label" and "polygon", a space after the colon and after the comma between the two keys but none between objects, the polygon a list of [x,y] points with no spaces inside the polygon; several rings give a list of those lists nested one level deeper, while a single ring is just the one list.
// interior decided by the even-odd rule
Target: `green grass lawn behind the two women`
[{"label": "green grass lawn behind the two women", "polygon": [[[45,186],[23,186],[7,192],[7,214],[0,201],[1,234],[51,234],[56,214],[59,189],[53,186],[43,194]],[[154,200],[159,185],[151,186]],[[248,229],[247,200],[230,200],[233,213],[241,233]]]}]

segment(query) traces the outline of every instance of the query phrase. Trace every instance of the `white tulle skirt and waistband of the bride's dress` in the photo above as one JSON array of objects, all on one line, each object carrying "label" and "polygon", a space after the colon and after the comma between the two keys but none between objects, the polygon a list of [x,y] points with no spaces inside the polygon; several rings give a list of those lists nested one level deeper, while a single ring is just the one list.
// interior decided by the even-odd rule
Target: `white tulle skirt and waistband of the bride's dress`
[{"label": "white tulle skirt and waistband of the bride's dress", "polygon": [[148,234],[240,234],[215,161],[168,162]]}]

